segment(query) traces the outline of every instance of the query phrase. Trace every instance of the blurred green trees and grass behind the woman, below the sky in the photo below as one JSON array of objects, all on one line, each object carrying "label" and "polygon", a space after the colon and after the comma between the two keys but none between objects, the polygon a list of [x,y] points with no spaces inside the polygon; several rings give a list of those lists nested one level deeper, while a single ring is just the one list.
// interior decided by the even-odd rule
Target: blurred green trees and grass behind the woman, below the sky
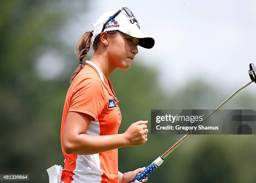
[{"label": "blurred green trees and grass behind the woman, below the sky", "polygon": [[[78,61],[76,40],[65,44],[63,29],[79,12],[86,14],[87,8],[90,3],[84,5],[84,1],[0,1],[0,174],[29,174],[30,182],[46,183],[47,168],[64,166],[61,115]],[[42,59],[56,72],[61,68],[61,73],[42,76]],[[149,120],[150,129],[151,109],[215,109],[233,92],[228,84],[228,91],[223,92],[200,77],[177,90],[164,91],[158,76],[159,70],[138,59],[127,71],[114,71],[111,81],[123,115],[119,133],[138,120]],[[255,109],[255,98],[245,90],[223,109]],[[180,137],[148,134],[145,145],[121,148],[119,170],[147,166]],[[192,135],[148,182],[254,183],[255,140],[255,135]]]}]

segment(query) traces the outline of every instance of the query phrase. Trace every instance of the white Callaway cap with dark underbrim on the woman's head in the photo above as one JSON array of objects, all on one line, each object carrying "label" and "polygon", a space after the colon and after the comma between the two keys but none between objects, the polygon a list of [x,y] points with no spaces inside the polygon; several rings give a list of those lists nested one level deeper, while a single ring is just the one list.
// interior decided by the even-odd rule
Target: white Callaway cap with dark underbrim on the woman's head
[{"label": "white Callaway cap with dark underbrim on the woman's head", "polygon": [[[114,11],[108,11],[101,15],[96,23],[92,23],[94,38],[101,33],[104,23],[115,13]],[[154,38],[143,34],[136,18],[128,16],[125,10],[122,10],[113,20],[107,23],[103,31],[119,30],[129,36],[139,38],[138,45],[143,48],[149,49],[154,46]]]}]

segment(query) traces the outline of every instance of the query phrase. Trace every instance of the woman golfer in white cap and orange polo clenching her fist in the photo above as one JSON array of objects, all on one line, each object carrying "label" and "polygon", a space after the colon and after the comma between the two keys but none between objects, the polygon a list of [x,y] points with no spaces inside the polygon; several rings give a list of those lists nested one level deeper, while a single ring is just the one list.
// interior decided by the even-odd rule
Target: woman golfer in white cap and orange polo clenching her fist
[{"label": "woman golfer in white cap and orange polo clenching her fist", "polygon": [[[110,82],[114,69],[128,69],[137,46],[152,48],[154,39],[141,33],[128,8],[103,14],[93,30],[77,43],[79,66],[72,74],[61,122],[64,183],[130,183],[143,168],[118,172],[118,148],[147,142],[147,121],[131,124],[118,134],[122,116]],[[90,61],[84,57],[95,51]],[[146,182],[143,179],[142,182]]]}]

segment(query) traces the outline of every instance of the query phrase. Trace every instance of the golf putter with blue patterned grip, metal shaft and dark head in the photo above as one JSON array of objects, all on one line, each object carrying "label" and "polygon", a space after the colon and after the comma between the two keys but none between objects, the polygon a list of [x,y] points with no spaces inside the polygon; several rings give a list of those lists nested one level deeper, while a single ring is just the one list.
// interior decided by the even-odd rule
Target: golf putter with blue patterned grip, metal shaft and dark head
[{"label": "golf putter with blue patterned grip, metal shaft and dark head", "polygon": [[[228,102],[228,100],[230,100],[232,97],[234,97],[239,91],[241,91],[242,89],[246,88],[247,86],[249,86],[250,84],[252,84],[253,82],[256,83],[256,67],[253,63],[249,64],[249,76],[251,78],[251,81],[246,84],[245,86],[241,87],[240,89],[238,89],[235,93],[233,93],[230,97],[228,97],[228,99],[226,99],[222,104],[220,104],[214,111],[212,111],[207,117],[205,117],[197,126],[199,126],[200,124],[202,124],[202,122],[204,122],[208,117],[210,117],[215,111],[217,111],[218,109],[220,109],[225,103]],[[136,178],[133,179],[133,183],[138,180],[141,181],[142,179],[146,178],[149,174],[151,174],[154,170],[156,170],[156,168],[158,168],[163,162],[164,159],[171,153],[174,151],[174,149],[176,149],[184,140],[187,139],[187,137],[189,137],[191,135],[191,133],[194,131],[194,129],[190,130],[189,132],[187,132],[186,135],[184,135],[178,142],[176,142],[171,148],[169,148],[166,152],[164,152],[163,155],[159,156],[158,158],[156,158],[156,160],[154,160],[150,165],[148,165],[148,167],[143,170],[139,175],[136,176]]]}]

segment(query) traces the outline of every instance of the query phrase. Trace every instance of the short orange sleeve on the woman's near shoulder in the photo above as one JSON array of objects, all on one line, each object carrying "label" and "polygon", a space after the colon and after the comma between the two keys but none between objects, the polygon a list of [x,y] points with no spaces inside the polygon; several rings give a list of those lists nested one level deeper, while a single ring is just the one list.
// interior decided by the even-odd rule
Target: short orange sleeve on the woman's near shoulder
[{"label": "short orange sleeve on the woman's near shoulder", "polygon": [[98,118],[105,106],[101,81],[93,78],[80,78],[74,83],[70,96],[69,112],[82,112]]}]

